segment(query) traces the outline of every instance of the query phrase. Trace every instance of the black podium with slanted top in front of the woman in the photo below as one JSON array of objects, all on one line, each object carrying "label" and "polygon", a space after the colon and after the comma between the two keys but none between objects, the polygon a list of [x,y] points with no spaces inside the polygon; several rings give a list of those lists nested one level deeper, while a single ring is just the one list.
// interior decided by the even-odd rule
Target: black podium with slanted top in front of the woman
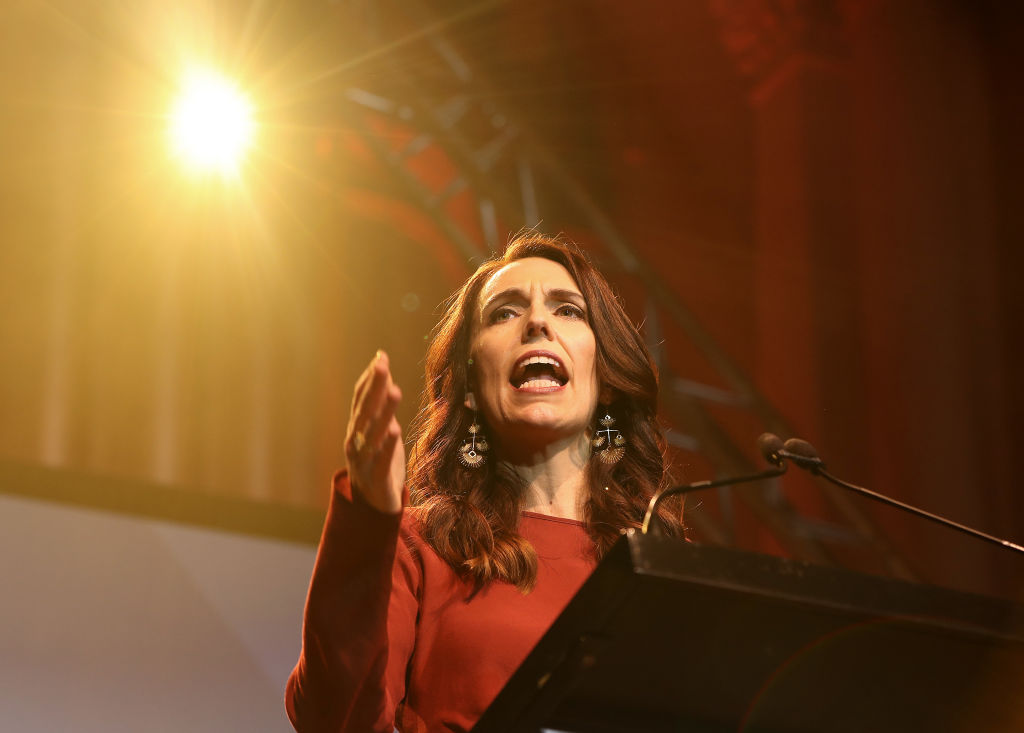
[{"label": "black podium with slanted top in front of the woman", "polygon": [[624,536],[473,728],[1024,731],[1024,608]]}]

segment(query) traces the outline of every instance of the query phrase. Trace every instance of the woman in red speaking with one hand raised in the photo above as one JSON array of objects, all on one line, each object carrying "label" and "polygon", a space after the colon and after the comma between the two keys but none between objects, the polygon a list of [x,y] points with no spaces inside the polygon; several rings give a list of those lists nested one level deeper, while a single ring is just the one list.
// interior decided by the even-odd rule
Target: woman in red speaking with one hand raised
[{"label": "woman in red speaking with one hand raised", "polygon": [[[469,730],[667,482],[656,395],[607,283],[537,233],[450,301],[408,474],[401,392],[379,352],[356,384],[310,583],[295,728]],[[663,511],[681,533],[678,509]]]}]

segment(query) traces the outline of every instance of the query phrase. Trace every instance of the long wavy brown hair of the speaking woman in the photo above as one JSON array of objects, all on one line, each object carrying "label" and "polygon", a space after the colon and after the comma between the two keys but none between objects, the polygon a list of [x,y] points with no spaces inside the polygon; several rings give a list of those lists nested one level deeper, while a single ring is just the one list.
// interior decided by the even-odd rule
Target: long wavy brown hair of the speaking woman
[{"label": "long wavy brown hair of the speaking woman", "polygon": [[[480,289],[496,271],[527,257],[559,263],[583,292],[597,343],[598,383],[612,395],[610,404],[599,408],[610,411],[629,441],[618,463],[609,467],[591,460],[586,468],[584,521],[597,558],[623,529],[640,526],[651,495],[669,482],[656,418],[657,374],[611,287],[575,245],[534,231],[516,236],[449,299],[432,333],[426,387],[410,428],[409,488],[423,536],[477,591],[500,580],[526,593],[537,580],[537,553],[517,529],[523,481],[495,460],[494,450],[476,469],[457,459],[473,419],[464,398],[472,379],[470,335]],[[680,505],[665,504],[662,526],[681,535]]]}]

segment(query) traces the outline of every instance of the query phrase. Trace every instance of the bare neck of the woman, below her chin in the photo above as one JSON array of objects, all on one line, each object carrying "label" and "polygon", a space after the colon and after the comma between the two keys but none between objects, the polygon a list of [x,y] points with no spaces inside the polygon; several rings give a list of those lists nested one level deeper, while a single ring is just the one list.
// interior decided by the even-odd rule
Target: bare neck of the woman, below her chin
[{"label": "bare neck of the woman, below her chin", "polygon": [[550,443],[508,462],[523,479],[523,510],[564,519],[583,519],[587,460],[586,435]]}]

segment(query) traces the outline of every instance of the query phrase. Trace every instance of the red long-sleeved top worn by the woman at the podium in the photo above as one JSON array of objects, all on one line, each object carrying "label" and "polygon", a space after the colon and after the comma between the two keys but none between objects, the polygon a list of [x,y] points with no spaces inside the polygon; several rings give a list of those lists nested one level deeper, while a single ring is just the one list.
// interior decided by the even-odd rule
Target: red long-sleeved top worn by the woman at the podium
[{"label": "red long-sleeved top worn by the woman at the podium", "polygon": [[534,591],[470,598],[414,512],[378,512],[335,478],[285,698],[297,731],[468,731],[595,566],[582,522],[524,512]]}]

